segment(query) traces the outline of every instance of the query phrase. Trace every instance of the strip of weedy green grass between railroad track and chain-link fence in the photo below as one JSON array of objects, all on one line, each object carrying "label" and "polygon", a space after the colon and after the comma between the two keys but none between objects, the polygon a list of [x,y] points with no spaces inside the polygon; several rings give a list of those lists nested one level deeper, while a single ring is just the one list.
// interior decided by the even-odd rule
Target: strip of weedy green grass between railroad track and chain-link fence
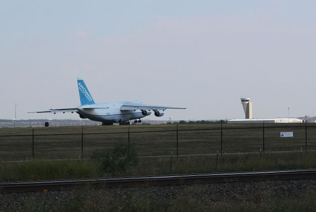
[{"label": "strip of weedy green grass between railroad track and chain-link fence", "polygon": [[[67,178],[150,176],[190,173],[260,170],[314,169],[315,152],[247,153],[171,158],[139,158],[125,171],[109,173],[95,160],[32,160],[0,162],[0,181],[29,181]],[[171,171],[170,171],[171,164]]]}]

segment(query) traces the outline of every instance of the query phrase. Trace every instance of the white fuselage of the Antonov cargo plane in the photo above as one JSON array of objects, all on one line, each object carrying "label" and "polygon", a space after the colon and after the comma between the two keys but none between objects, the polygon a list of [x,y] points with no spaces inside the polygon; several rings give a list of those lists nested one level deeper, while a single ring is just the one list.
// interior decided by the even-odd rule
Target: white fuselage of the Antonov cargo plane
[{"label": "white fuselage of the Antonov cargo plane", "polygon": [[[127,102],[118,102],[118,103],[101,103],[93,105],[82,105],[78,106],[78,113],[83,118],[88,118],[93,121],[100,121],[103,123],[118,123],[134,119],[140,119],[147,115],[150,115],[151,112],[147,112],[146,115],[142,114],[142,110],[120,110],[120,107]],[[130,103],[130,102],[129,102]],[[140,101],[135,101],[135,103],[141,103]],[[83,108],[86,106],[94,107],[93,109]],[[96,108],[100,107],[100,108]]]}]

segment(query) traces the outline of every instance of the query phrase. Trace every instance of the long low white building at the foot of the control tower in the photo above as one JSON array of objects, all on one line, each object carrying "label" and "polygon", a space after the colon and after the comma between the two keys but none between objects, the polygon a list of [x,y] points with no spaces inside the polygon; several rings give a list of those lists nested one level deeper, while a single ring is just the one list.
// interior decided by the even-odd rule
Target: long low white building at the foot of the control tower
[{"label": "long low white building at the foot of the control tower", "polygon": [[263,124],[263,123],[302,123],[298,118],[267,118],[267,119],[231,119],[229,124]]}]

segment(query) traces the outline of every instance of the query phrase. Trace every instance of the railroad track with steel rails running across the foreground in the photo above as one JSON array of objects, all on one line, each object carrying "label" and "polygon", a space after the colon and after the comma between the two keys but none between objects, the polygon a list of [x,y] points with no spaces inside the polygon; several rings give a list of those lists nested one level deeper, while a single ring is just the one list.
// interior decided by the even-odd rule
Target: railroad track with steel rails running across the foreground
[{"label": "railroad track with steel rails running across the foreground", "polygon": [[66,190],[79,188],[79,186],[83,185],[90,185],[96,188],[114,188],[140,185],[161,186],[202,182],[289,180],[304,178],[316,178],[316,169],[3,182],[0,183],[0,193]]}]

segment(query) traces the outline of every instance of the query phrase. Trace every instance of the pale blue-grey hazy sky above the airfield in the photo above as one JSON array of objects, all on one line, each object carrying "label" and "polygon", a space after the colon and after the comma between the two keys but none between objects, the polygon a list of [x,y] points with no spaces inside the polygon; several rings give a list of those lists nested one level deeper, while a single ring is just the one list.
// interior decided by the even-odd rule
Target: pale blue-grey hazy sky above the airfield
[{"label": "pale blue-grey hazy sky above the airfield", "polygon": [[151,119],[316,115],[315,0],[0,0],[0,119],[96,103],[185,106]]}]

